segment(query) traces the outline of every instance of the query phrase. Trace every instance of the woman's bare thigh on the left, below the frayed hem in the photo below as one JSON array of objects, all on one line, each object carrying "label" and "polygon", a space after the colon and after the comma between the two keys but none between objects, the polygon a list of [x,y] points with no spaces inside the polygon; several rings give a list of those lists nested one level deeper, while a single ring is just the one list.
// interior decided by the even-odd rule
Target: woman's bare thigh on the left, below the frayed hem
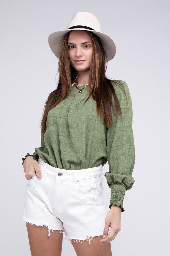
[{"label": "woman's bare thigh on the left, below the frayed hem", "polygon": [[32,256],[61,256],[63,233],[55,230],[47,236],[48,228],[26,222]]}]

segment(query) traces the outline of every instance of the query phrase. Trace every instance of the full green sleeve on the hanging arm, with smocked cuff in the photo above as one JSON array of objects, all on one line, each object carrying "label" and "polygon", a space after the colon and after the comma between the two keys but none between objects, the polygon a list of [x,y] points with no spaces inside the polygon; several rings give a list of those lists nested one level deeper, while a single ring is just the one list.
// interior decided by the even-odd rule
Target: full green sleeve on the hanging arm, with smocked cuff
[{"label": "full green sleeve on the hanging arm, with smocked cuff", "polygon": [[[120,117],[117,111],[112,110],[112,126],[107,128],[107,160],[109,172],[104,176],[111,188],[110,205],[121,207],[122,212],[125,191],[132,188],[135,180],[132,172],[135,164],[135,146],[132,129],[132,101],[127,84],[121,81],[128,99],[122,89],[114,86],[122,111]],[[129,108],[128,108],[129,105]],[[114,105],[115,107],[115,105]]]}]

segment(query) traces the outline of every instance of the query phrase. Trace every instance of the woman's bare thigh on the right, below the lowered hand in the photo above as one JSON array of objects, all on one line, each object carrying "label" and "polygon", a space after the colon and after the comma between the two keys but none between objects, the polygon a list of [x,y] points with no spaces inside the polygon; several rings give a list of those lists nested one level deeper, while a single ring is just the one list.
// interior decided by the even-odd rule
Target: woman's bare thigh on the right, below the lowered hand
[{"label": "woman's bare thigh on the right, below the lowered hand", "polygon": [[93,237],[90,240],[90,244],[87,240],[82,241],[82,243],[75,243],[71,241],[77,256],[112,256],[111,244],[110,242],[106,244],[99,244],[103,236]]}]

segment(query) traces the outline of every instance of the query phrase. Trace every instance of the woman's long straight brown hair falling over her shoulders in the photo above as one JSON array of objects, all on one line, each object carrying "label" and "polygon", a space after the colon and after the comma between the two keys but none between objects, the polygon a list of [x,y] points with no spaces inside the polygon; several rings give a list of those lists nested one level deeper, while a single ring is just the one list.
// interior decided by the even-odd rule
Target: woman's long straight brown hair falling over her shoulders
[{"label": "woman's long straight brown hair falling over her shoulders", "polygon": [[[69,88],[73,92],[73,89],[70,87],[70,85],[73,84],[76,80],[76,72],[70,64],[68,55],[68,37],[70,32],[71,31],[69,31],[63,38],[61,54],[58,62],[59,81],[57,89],[49,94],[44,106],[45,109],[43,110],[43,117],[41,121],[42,134],[44,134],[46,131],[46,120],[48,112],[68,96]],[[86,32],[89,34],[93,41],[93,54],[89,71],[89,96],[85,102],[89,99],[90,96],[92,96],[96,101],[97,115],[100,118],[104,117],[106,126],[110,127],[112,125],[111,107],[114,111],[112,97],[114,97],[115,107],[118,111],[118,114],[120,117],[122,117],[120,104],[117,99],[113,83],[117,84],[124,93],[125,90],[123,84],[120,81],[111,80],[106,77],[105,73],[107,69],[107,62],[105,62],[105,60],[107,60],[107,56],[101,40],[94,33],[90,31]]]}]

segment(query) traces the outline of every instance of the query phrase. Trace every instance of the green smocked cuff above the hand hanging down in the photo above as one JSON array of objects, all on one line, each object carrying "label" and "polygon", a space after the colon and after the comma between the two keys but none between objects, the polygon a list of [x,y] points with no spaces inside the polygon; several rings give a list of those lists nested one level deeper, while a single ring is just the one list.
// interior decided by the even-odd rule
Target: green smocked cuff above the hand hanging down
[{"label": "green smocked cuff above the hand hanging down", "polygon": [[125,196],[125,191],[126,191],[126,185],[124,183],[118,183],[113,181],[110,184],[110,189],[111,189],[111,198],[110,198],[110,205],[109,208],[111,209],[112,205],[117,205],[121,207],[121,212],[124,212],[123,208],[123,200]]}]

